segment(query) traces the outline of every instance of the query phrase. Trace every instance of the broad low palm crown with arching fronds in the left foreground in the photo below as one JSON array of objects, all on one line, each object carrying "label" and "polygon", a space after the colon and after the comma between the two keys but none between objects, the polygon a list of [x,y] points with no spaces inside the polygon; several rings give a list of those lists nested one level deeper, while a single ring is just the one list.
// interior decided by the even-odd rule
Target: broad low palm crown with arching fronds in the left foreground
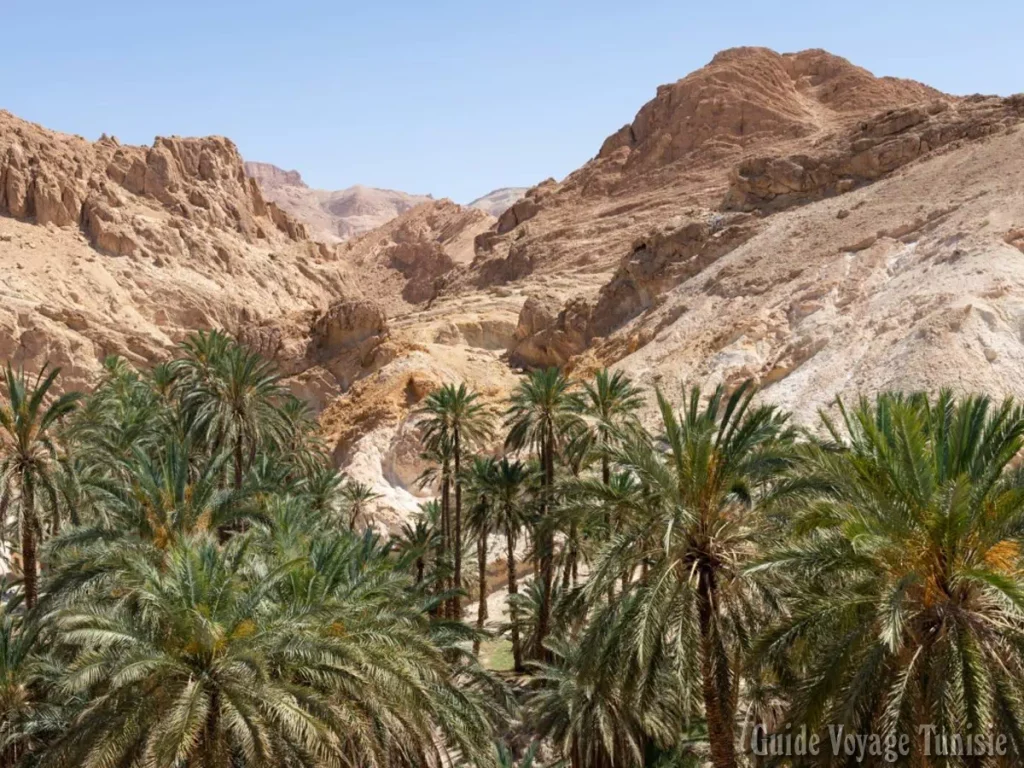
[{"label": "broad low palm crown with arching fronds in the left foreground", "polygon": [[447,682],[384,553],[329,537],[264,568],[257,545],[194,539],[166,568],[126,558],[119,594],[50,614],[61,687],[89,701],[53,763],[439,765],[452,749],[489,764],[486,710]]}]

